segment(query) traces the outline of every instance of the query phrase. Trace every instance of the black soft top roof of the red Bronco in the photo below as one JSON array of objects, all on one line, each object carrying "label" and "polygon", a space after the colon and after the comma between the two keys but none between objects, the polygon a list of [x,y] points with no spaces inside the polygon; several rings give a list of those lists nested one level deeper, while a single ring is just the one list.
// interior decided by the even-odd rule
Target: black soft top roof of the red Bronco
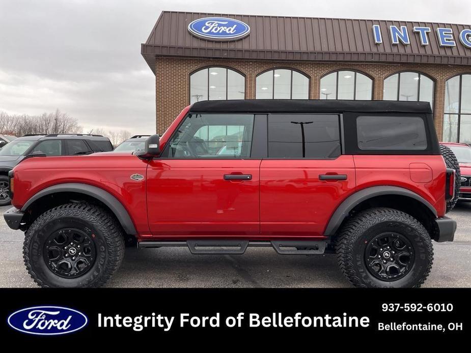
[{"label": "black soft top roof of the red Bronco", "polygon": [[202,101],[190,113],[203,112],[398,112],[431,113],[428,102],[354,101],[313,99],[247,99]]}]

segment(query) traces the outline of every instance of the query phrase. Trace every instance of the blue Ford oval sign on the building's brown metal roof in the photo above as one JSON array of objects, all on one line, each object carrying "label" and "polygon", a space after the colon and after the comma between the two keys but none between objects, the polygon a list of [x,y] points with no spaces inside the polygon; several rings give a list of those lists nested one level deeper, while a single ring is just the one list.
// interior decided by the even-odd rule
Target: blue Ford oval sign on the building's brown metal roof
[{"label": "blue Ford oval sign on the building's brown metal roof", "polygon": [[188,24],[188,31],[203,39],[236,40],[248,35],[248,24],[226,17],[205,17]]}]

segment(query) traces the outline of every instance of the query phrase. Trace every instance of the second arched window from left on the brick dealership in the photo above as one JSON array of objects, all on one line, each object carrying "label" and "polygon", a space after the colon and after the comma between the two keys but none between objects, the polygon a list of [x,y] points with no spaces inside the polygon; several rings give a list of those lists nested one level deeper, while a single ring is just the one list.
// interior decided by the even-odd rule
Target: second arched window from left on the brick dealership
[{"label": "second arched window from left on the brick dealership", "polygon": [[266,71],[257,76],[256,99],[308,99],[309,78],[288,69]]}]

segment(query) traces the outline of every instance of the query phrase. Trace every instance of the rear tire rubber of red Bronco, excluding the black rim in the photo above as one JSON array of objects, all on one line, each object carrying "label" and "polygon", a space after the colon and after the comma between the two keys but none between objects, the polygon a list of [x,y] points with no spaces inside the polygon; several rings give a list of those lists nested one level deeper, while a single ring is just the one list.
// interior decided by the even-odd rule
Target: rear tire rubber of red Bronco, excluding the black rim
[{"label": "rear tire rubber of red Bronco, excluding the black rim", "polygon": [[[367,267],[365,249],[369,241],[383,232],[402,234],[414,250],[413,265],[404,277],[385,281]],[[362,211],[343,225],[335,242],[340,270],[355,287],[420,287],[430,273],[433,247],[424,226],[412,216],[394,209]]]}]

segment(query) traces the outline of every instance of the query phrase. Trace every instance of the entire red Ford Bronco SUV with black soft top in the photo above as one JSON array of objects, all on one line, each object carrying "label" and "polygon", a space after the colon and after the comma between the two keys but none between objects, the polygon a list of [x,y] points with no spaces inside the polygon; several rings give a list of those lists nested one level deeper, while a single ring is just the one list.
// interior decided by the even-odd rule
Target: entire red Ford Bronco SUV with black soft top
[{"label": "entire red Ford Bronco SUV with black soft top", "polygon": [[103,285],[128,237],[193,254],[336,253],[355,286],[418,287],[431,241],[456,229],[455,170],[423,102],[198,102],[144,150],[28,158],[10,179],[5,220],[44,287]]}]

